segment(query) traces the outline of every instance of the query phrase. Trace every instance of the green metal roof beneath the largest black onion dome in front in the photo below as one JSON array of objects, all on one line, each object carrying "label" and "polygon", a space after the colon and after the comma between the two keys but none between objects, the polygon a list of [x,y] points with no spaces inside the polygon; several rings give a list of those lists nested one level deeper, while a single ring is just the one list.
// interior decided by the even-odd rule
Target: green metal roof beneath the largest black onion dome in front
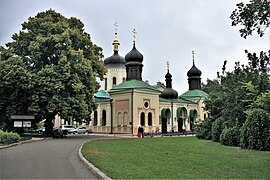
[{"label": "green metal roof beneath the largest black onion dome in front", "polygon": [[149,85],[148,83],[143,82],[143,81],[138,81],[135,79],[122,82],[118,86],[112,88],[109,91],[109,93],[119,92],[119,91],[128,90],[128,89],[138,89],[138,90],[143,90],[143,91],[159,92],[160,93],[159,90],[157,90],[153,86]]}]

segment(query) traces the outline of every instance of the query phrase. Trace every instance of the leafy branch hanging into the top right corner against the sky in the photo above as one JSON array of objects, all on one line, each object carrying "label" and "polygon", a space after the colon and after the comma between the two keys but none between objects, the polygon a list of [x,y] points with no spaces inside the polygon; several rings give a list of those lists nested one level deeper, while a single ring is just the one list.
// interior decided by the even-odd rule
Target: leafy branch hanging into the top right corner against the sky
[{"label": "leafy branch hanging into the top right corner against the sky", "polygon": [[237,9],[233,11],[230,18],[232,26],[244,26],[239,30],[242,37],[246,38],[257,30],[260,36],[264,35],[266,28],[270,25],[270,1],[250,0],[248,4],[238,3]]}]

